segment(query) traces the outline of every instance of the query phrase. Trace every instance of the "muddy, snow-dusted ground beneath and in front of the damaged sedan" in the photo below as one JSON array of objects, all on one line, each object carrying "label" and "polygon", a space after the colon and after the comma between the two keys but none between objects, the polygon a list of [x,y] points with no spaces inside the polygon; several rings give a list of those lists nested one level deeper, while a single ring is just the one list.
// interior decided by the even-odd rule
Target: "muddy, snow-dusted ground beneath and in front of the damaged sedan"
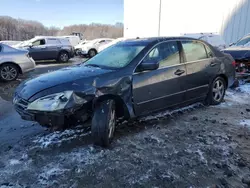
[{"label": "muddy, snow-dusted ground beneath and in front of the damaged sedan", "polygon": [[124,122],[110,149],[82,126],[50,133],[22,121],[2,100],[0,187],[250,187],[249,97],[245,84],[219,106]]}]

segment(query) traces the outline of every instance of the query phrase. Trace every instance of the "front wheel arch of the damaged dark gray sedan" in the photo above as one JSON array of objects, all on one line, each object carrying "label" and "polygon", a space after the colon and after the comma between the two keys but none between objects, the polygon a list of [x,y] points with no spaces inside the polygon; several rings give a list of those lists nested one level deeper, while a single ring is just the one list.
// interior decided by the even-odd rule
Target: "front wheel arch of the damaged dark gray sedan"
[{"label": "front wheel arch of the damaged dark gray sedan", "polygon": [[92,108],[95,109],[95,107],[98,106],[100,102],[103,102],[105,100],[110,100],[110,99],[115,101],[115,108],[116,108],[116,113],[117,113],[118,118],[120,117],[124,117],[125,119],[130,118],[127,105],[125,104],[124,100],[118,95],[113,95],[113,94],[102,95],[93,100]]}]

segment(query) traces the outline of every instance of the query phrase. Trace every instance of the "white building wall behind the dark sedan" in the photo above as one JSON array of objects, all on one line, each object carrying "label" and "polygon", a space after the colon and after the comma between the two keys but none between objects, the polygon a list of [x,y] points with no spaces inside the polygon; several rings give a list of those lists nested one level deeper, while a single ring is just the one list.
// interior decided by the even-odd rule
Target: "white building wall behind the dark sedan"
[{"label": "white building wall behind the dark sedan", "polygon": [[250,0],[124,0],[125,37],[201,32],[220,33],[228,44],[250,33]]}]

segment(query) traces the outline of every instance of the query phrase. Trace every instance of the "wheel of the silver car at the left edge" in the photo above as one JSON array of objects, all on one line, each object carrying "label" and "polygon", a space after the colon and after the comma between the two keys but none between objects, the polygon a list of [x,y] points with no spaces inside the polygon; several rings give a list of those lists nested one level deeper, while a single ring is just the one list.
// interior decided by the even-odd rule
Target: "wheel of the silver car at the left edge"
[{"label": "wheel of the silver car at the left edge", "polygon": [[16,80],[19,75],[19,69],[13,64],[4,64],[0,66],[0,80],[8,82]]}]

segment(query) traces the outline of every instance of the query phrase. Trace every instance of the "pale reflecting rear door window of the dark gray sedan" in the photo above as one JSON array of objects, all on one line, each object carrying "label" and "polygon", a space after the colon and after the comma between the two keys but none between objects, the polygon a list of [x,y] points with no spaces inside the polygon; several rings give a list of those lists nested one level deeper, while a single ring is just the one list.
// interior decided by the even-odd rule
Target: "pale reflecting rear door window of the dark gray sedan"
[{"label": "pale reflecting rear door window of the dark gray sedan", "polygon": [[199,61],[208,58],[204,44],[198,41],[182,41],[181,43],[187,62]]}]

